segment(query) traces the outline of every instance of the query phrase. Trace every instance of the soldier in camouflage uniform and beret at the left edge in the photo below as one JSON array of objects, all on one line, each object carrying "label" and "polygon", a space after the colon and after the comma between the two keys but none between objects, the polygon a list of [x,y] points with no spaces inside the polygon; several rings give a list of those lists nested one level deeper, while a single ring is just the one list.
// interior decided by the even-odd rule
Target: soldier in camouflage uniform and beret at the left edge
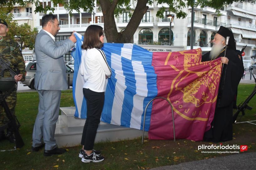
[{"label": "soldier in camouflage uniform and beret at the left edge", "polygon": [[[10,67],[13,70],[19,70],[20,74],[15,75],[14,79],[16,81],[24,81],[25,80],[25,62],[23,59],[23,56],[20,51],[20,46],[17,42],[15,42],[13,39],[11,39],[8,35],[7,32],[9,31],[8,29],[8,24],[0,19],[0,54],[3,55],[5,59],[11,62]],[[0,66],[1,67],[1,66]],[[1,75],[0,75],[1,76]],[[12,77],[10,72],[8,70],[4,71],[4,77]],[[14,115],[14,109],[16,105],[16,85],[15,87],[8,93],[8,95],[5,98],[5,101],[11,111],[11,113]],[[0,129],[1,126],[7,124],[9,122],[9,119],[7,118],[6,114],[4,113],[4,109],[2,105],[0,104]],[[12,127],[8,127],[6,136],[4,130],[0,130],[0,140],[1,138],[7,137],[10,142],[15,142],[15,137],[12,132]]]}]

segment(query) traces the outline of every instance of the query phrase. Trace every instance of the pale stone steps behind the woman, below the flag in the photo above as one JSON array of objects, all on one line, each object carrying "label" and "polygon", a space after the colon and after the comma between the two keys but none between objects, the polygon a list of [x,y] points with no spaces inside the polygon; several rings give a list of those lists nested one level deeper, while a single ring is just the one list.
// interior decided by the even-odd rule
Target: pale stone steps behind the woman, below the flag
[{"label": "pale stone steps behind the woman, below the flag", "polygon": [[[61,115],[56,123],[55,139],[58,147],[80,145],[85,119],[74,117],[74,107],[61,108]],[[119,141],[134,139],[142,136],[142,130],[126,128],[114,124],[100,122],[95,142]],[[144,133],[147,137],[148,133]]]}]

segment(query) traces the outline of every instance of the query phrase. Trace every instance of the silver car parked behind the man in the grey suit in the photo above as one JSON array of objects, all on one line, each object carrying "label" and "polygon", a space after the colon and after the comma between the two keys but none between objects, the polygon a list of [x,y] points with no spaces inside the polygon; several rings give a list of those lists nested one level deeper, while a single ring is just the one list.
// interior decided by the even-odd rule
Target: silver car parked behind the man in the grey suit
[{"label": "silver car parked behind the man in the grey suit", "polygon": [[[27,65],[25,70],[27,71],[27,74],[25,76],[25,81],[20,81],[20,83],[29,86],[30,89],[35,89],[35,71],[36,71],[36,61],[30,61]],[[70,66],[66,65],[66,77],[68,80],[68,74],[69,76],[69,85],[73,85],[73,76],[74,76],[74,69],[72,69]]]}]

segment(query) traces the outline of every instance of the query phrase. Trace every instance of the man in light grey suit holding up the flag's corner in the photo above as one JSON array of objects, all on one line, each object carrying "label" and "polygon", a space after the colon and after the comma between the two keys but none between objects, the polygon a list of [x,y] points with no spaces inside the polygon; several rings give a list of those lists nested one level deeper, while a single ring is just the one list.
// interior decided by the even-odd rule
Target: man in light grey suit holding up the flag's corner
[{"label": "man in light grey suit holding up the flag's corner", "polygon": [[50,156],[66,152],[56,146],[54,134],[59,117],[61,90],[68,87],[63,55],[74,47],[76,37],[72,34],[69,39],[56,42],[54,36],[59,32],[60,25],[53,14],[42,17],[42,27],[35,40],[35,89],[39,94],[39,106],[33,130],[32,151],[39,151],[44,142],[44,155]]}]

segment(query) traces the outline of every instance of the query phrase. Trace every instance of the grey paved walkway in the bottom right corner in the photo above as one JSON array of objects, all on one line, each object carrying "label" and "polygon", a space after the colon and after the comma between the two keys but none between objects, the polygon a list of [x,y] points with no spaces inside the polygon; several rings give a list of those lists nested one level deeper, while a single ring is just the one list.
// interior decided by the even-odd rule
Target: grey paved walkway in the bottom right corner
[{"label": "grey paved walkway in the bottom right corner", "polygon": [[152,170],[255,170],[255,167],[256,152],[249,152],[152,168]]}]

